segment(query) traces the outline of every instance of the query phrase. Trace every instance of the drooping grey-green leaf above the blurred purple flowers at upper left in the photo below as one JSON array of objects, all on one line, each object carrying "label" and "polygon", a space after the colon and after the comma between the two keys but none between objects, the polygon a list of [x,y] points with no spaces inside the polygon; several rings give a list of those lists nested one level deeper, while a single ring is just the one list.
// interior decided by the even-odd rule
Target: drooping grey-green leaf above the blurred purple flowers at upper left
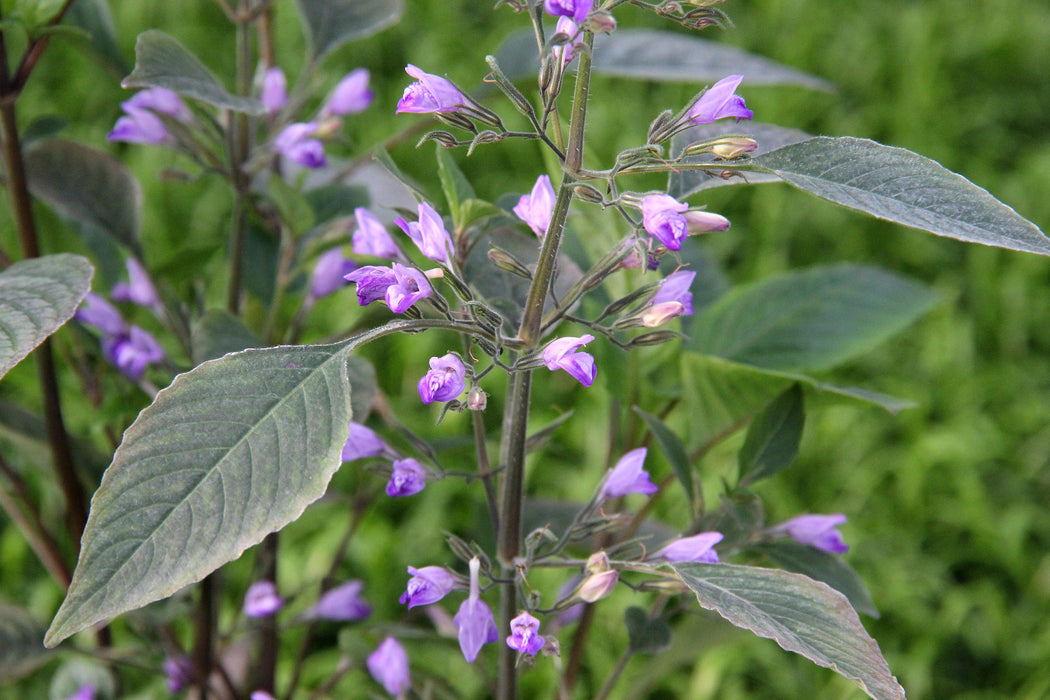
[{"label": "drooping grey-green leaf above the blurred purple flowers at upper left", "polygon": [[166,87],[220,109],[261,114],[262,103],[231,94],[188,48],[160,29],[148,29],[134,43],[134,70],[123,87]]}]

